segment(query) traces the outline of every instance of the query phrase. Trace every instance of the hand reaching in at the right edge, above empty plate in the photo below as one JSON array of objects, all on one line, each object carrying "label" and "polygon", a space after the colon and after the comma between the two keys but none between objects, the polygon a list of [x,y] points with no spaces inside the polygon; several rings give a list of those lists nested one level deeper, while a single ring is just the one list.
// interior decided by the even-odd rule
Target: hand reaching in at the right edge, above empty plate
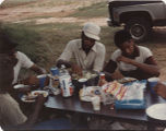
[{"label": "hand reaching in at the right edge, above empty plate", "polygon": [[157,83],[157,85],[154,87],[154,91],[163,98],[166,98],[166,85]]}]

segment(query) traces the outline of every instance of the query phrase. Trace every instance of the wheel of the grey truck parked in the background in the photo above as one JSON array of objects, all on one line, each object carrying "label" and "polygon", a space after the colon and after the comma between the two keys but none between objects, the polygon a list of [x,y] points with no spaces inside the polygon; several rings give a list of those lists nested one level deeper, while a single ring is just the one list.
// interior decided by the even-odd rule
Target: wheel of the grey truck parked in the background
[{"label": "wheel of the grey truck parked in the background", "polygon": [[124,29],[127,29],[133,39],[137,41],[143,41],[151,33],[151,24],[144,19],[132,19],[126,23]]}]

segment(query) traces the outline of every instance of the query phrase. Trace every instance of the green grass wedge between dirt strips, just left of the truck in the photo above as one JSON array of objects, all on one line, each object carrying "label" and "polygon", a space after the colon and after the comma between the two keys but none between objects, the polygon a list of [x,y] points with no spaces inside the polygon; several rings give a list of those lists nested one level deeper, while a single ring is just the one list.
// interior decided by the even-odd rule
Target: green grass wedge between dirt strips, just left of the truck
[{"label": "green grass wedge between dirt strips, just left of the truck", "polygon": [[107,17],[108,16],[107,2],[104,1],[104,2],[94,3],[90,7],[80,8],[78,11],[70,14],[69,16],[83,17],[83,19]]}]

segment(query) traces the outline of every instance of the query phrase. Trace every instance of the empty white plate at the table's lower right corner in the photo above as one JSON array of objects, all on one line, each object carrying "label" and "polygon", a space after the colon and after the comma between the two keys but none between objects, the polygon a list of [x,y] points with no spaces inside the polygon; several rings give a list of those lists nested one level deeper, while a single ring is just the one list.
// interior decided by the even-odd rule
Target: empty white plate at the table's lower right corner
[{"label": "empty white plate at the table's lower right corner", "polygon": [[155,104],[146,109],[146,115],[158,120],[166,120],[166,104]]}]

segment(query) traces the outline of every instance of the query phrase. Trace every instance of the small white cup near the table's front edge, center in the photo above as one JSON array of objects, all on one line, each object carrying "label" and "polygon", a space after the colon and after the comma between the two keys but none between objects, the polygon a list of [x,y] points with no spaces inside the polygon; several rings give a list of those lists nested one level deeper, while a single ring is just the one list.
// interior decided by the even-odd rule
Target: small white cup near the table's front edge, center
[{"label": "small white cup near the table's front edge, center", "polygon": [[100,97],[99,96],[92,97],[91,102],[92,102],[94,110],[100,110]]}]

